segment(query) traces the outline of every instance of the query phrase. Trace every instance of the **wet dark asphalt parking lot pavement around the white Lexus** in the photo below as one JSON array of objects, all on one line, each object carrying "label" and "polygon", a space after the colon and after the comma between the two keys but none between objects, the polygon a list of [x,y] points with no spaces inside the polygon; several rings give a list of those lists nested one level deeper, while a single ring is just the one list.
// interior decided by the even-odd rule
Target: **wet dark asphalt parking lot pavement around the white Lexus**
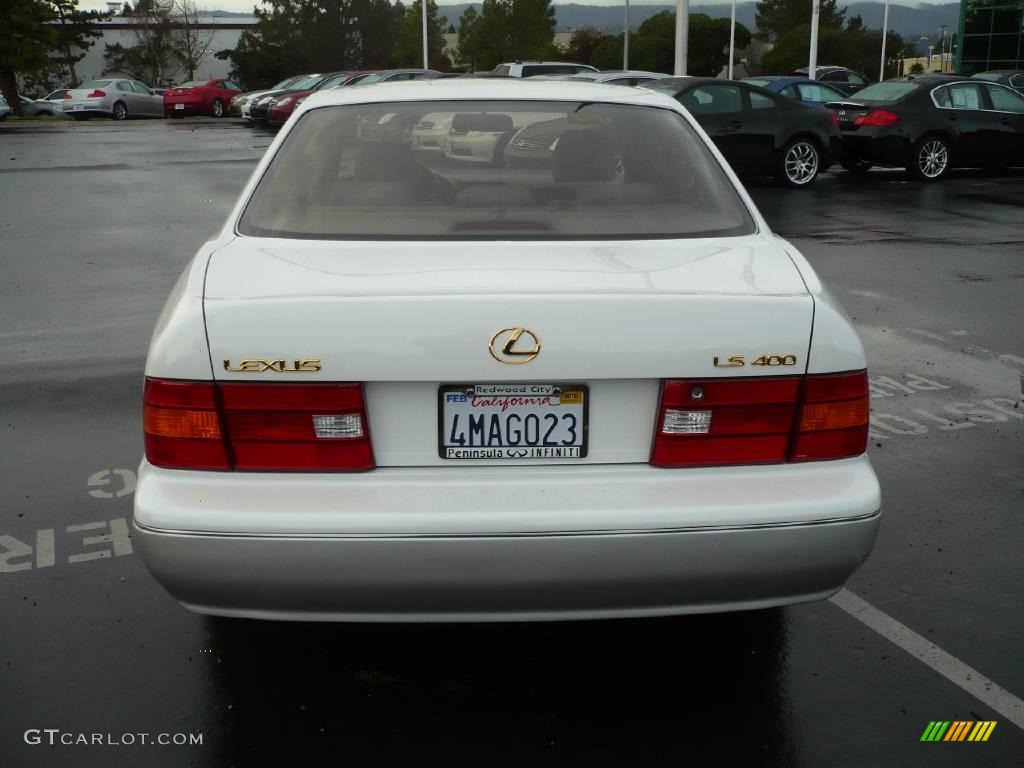
[{"label": "wet dark asphalt parking lot pavement around the white Lexus", "polygon": [[[229,121],[0,127],[0,763],[1021,764],[1024,174],[750,185],[868,351],[885,521],[835,601],[232,624],[174,603],[127,524],[148,334],[268,142]],[[997,726],[922,742],[936,720]],[[113,743],[50,746],[45,729]]]}]

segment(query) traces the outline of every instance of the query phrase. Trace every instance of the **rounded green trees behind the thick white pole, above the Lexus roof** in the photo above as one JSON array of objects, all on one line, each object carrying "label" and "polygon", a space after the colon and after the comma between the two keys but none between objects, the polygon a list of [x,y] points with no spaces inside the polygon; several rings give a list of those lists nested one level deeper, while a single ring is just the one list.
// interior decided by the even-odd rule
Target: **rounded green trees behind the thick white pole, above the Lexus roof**
[{"label": "rounded green trees behind the thick white pole, above the Lexus roof", "polygon": [[[750,45],[751,32],[736,25],[735,47]],[[728,63],[729,19],[711,18],[705,13],[690,14],[690,43],[686,71],[690,75],[714,77]],[[676,14],[662,11],[646,19],[630,35],[630,69],[664,72],[675,69]],[[623,36],[603,37],[595,46],[591,63],[601,70],[623,66]]]}]

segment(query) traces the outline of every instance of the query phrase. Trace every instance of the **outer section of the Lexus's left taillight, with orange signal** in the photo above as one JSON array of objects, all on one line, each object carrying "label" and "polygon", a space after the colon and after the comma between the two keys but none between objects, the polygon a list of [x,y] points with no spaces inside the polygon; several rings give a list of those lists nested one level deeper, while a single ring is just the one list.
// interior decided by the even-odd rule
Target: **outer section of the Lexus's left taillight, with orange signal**
[{"label": "outer section of the Lexus's left taillight, with orange signal", "polygon": [[145,456],[175,469],[230,469],[212,382],[145,380]]}]

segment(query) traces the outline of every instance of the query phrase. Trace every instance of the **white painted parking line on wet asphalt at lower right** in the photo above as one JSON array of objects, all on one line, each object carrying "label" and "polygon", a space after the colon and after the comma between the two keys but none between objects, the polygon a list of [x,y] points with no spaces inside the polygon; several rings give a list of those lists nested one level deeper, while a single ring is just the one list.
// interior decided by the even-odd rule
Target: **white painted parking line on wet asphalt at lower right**
[{"label": "white painted parking line on wet asphalt at lower right", "polygon": [[958,685],[979,701],[1024,729],[1024,701],[973,667],[969,667],[938,645],[922,637],[906,625],[876,608],[848,589],[841,589],[828,602],[842,608],[868,629],[899,646],[949,682]]}]

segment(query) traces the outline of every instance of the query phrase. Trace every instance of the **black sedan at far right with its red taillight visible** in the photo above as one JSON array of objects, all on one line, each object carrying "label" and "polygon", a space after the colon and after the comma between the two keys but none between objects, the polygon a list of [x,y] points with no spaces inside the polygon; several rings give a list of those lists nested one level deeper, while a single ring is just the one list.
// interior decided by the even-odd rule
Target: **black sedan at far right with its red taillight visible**
[{"label": "black sedan at far right with its red taillight visible", "polygon": [[935,181],[954,167],[1024,165],[1024,96],[953,75],[869,85],[828,104],[843,131],[843,165],[903,167]]}]

